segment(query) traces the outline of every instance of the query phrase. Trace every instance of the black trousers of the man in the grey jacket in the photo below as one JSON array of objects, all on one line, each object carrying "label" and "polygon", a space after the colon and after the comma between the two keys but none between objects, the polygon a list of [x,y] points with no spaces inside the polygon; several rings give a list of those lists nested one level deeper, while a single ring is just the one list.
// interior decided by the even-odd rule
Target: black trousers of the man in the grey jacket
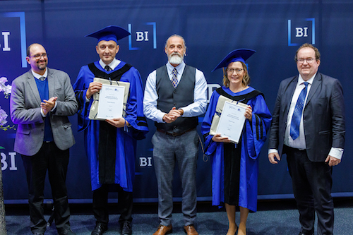
[{"label": "black trousers of the man in the grey jacket", "polygon": [[43,143],[40,151],[33,156],[22,155],[29,192],[30,229],[33,233],[44,233],[47,227],[43,205],[44,180],[47,171],[54,200],[56,229],[70,227],[70,210],[65,183],[69,155],[69,150],[59,150],[54,142]]}]

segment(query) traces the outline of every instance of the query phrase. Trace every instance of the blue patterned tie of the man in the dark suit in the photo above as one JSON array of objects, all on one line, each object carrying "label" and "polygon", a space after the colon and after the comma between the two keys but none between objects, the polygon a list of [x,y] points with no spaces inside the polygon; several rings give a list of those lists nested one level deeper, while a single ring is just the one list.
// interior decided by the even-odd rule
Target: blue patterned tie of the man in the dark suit
[{"label": "blue patterned tie of the man in the dark suit", "polygon": [[294,107],[292,122],[290,123],[290,136],[293,140],[299,137],[299,125],[301,121],[301,114],[303,113],[304,101],[306,97],[306,90],[308,90],[308,84],[309,83],[306,82],[304,83],[305,88],[301,90],[297,100],[297,104],[295,104]]}]

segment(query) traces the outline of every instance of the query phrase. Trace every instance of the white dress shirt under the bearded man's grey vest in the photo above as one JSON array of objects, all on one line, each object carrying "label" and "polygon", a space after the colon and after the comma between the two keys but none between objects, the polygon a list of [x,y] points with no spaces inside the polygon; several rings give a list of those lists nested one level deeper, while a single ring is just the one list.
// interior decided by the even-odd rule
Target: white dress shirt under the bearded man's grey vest
[{"label": "white dress shirt under the bearded man's grey vest", "polygon": [[[174,69],[174,66],[167,63],[167,73],[169,76],[169,79],[172,80],[172,71]],[[186,64],[184,61],[179,64],[177,67],[177,78],[178,78],[178,83],[181,79],[181,76],[184,73],[184,68]],[[151,119],[152,121],[157,121],[157,122],[164,122],[163,121],[163,116],[164,112],[162,112],[160,109],[157,109],[157,100],[158,100],[158,95],[157,95],[157,90],[156,90],[156,76],[157,72],[153,71],[150,73],[146,80],[146,87],[145,87],[145,95],[143,97],[143,114],[148,119]],[[206,111],[207,107],[207,96],[206,96],[206,90],[207,90],[207,82],[205,79],[205,76],[203,75],[203,72],[199,71],[196,68],[196,80],[195,80],[195,88],[193,89],[193,103],[189,104],[186,107],[179,107],[179,109],[183,109],[184,117],[191,117],[191,116],[198,116],[201,114],[204,114]],[[171,82],[172,83],[172,82]]]}]

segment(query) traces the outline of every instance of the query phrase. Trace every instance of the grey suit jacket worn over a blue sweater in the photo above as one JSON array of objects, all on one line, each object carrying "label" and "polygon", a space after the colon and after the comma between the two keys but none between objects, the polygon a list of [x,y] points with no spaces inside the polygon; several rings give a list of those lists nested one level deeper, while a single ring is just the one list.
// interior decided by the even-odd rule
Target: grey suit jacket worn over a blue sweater
[{"label": "grey suit jacket worn over a blue sweater", "polygon": [[[48,69],[49,98],[58,97],[56,110],[50,115],[54,142],[61,150],[75,143],[68,116],[76,113],[78,104],[67,73]],[[18,124],[14,150],[21,155],[35,155],[44,140],[44,119],[40,114],[40,93],[31,71],[12,82],[11,120]]]}]

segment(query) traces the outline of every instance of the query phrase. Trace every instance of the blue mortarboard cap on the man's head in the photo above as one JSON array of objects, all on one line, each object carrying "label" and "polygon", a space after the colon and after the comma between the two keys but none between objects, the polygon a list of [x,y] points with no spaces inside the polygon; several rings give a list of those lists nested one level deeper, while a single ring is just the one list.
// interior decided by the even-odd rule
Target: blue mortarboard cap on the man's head
[{"label": "blue mortarboard cap on the man's head", "polygon": [[102,40],[113,40],[114,42],[118,43],[118,40],[121,40],[121,38],[127,37],[128,35],[130,35],[130,32],[126,31],[124,28],[116,25],[109,25],[105,28],[102,28],[102,30],[98,30],[90,33],[89,35],[85,35],[85,37],[95,37],[97,38],[98,42]]}]

